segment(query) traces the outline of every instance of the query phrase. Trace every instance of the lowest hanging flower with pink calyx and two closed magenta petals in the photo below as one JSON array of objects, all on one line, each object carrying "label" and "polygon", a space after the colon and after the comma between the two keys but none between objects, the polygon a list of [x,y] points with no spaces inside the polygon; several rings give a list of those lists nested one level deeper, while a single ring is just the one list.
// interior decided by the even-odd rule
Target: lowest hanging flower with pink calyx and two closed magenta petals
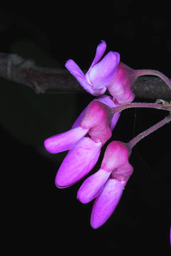
[{"label": "lowest hanging flower with pink calyx and two closed magenta petals", "polygon": [[89,203],[94,198],[92,208],[92,228],[99,228],[114,212],[123,193],[133,167],[128,162],[131,149],[123,142],[111,142],[105,151],[101,168],[89,176],[79,188],[77,198]]}]

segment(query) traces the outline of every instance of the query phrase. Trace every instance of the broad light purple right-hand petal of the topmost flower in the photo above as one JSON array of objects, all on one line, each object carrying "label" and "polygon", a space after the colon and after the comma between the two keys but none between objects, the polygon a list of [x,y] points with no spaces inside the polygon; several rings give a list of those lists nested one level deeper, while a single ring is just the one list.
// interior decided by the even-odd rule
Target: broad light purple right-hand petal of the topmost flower
[{"label": "broad light purple right-hand petal of the topmost flower", "polygon": [[119,53],[109,52],[85,75],[86,78],[89,76],[87,80],[92,82],[94,90],[104,88],[111,83],[116,74],[119,60]]}]

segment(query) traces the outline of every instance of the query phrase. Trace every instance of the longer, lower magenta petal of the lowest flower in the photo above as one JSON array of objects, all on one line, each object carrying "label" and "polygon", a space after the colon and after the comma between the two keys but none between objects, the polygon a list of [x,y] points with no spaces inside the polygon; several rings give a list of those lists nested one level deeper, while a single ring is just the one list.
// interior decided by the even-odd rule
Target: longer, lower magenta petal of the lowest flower
[{"label": "longer, lower magenta petal of the lowest flower", "polygon": [[92,208],[92,228],[99,228],[114,212],[123,192],[122,181],[109,178]]}]

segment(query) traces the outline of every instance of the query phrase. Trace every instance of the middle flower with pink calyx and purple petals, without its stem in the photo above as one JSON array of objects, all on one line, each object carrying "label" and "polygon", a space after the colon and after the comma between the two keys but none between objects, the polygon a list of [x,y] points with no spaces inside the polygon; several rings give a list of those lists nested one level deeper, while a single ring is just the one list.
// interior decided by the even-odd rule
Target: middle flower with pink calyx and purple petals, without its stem
[{"label": "middle flower with pink calyx and purple petals, without its stem", "polygon": [[69,150],[57,171],[57,187],[71,186],[92,170],[120,115],[112,114],[112,107],[116,104],[111,97],[103,95],[87,106],[70,131],[45,140],[45,149],[50,153]]}]

